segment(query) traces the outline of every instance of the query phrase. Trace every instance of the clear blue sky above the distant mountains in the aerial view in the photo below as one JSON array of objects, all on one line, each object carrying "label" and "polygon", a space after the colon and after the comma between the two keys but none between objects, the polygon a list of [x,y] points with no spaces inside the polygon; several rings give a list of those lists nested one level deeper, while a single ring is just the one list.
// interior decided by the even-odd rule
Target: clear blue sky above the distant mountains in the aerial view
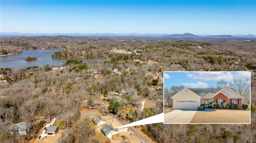
[{"label": "clear blue sky above the distant mountains in the aerial view", "polygon": [[1,0],[1,32],[256,35],[256,1]]}]

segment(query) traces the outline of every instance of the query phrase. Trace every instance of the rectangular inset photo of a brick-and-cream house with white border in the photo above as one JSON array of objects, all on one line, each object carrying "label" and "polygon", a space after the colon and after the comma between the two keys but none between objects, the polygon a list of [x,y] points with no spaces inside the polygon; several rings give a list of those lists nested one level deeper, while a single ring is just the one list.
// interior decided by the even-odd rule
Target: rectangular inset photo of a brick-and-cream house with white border
[{"label": "rectangular inset photo of a brick-and-cream house with white border", "polygon": [[164,123],[250,123],[250,72],[164,72]]}]

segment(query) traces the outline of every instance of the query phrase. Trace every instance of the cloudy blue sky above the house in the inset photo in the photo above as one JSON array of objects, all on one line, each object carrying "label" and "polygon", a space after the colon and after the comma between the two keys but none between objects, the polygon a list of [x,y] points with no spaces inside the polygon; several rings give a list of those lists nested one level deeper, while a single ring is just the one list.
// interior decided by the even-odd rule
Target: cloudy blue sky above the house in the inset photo
[{"label": "cloudy blue sky above the house in the inset photo", "polygon": [[233,76],[250,80],[250,72],[164,72],[164,87],[216,88],[218,81],[232,82]]}]

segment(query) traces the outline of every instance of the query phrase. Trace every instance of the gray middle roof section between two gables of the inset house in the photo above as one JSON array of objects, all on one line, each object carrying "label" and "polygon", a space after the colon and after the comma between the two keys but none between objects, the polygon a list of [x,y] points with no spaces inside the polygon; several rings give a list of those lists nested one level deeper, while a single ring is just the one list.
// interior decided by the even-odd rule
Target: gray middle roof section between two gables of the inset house
[{"label": "gray middle roof section between two gables of the inset house", "polygon": [[222,88],[188,88],[197,95],[204,97],[212,97],[214,94],[222,90]]}]

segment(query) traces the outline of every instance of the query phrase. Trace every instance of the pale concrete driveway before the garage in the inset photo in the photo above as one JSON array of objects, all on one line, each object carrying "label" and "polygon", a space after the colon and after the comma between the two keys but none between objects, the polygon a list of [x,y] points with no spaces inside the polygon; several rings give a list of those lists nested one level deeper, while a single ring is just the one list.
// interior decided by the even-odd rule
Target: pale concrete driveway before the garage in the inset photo
[{"label": "pale concrete driveway before the garage in the inset photo", "polygon": [[196,110],[179,109],[164,114],[164,123],[190,123]]}]

